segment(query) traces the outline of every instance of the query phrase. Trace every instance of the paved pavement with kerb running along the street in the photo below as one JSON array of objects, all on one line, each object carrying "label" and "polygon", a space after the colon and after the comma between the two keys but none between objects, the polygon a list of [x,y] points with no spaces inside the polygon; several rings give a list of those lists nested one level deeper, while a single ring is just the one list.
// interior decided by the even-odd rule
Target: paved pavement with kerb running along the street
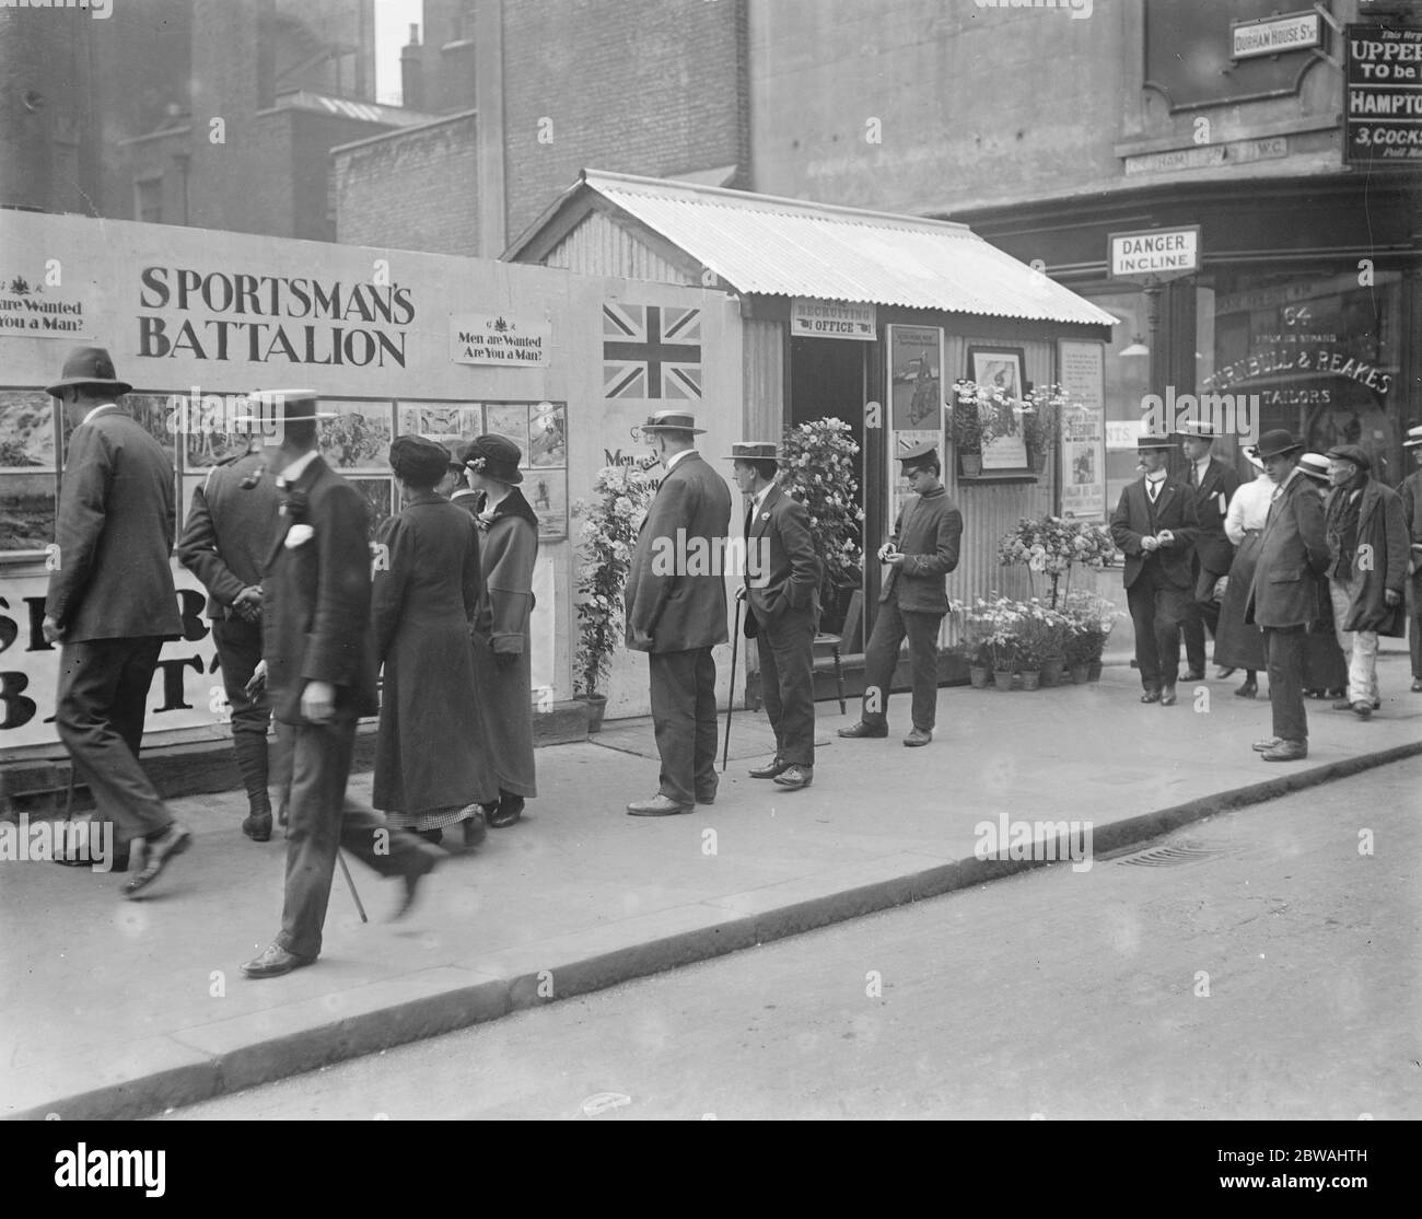
[{"label": "paved pavement with kerb running along the street", "polygon": [[[1142,707],[1123,666],[1032,694],[941,690],[923,750],[900,745],[894,696],[894,734],[836,740],[801,792],[745,775],[769,734],[737,713],[717,804],[665,819],[624,814],[656,788],[650,724],[610,725],[542,750],[523,822],[449,859],[405,920],[384,922],[394,883],[357,865],[361,925],[337,878],[320,963],[266,981],[237,966],[277,929],[283,843],[240,835],[239,794],[175,801],[196,843],[144,900],[114,875],[0,868],[0,1114],[158,1112],[1030,866],[974,858],[983,821],[1089,821],[1103,853],[1422,752],[1405,654],[1379,676],[1369,723],[1311,704],[1293,765],[1249,748],[1268,707],[1234,681]],[[855,708],[819,714],[832,734]]]}]

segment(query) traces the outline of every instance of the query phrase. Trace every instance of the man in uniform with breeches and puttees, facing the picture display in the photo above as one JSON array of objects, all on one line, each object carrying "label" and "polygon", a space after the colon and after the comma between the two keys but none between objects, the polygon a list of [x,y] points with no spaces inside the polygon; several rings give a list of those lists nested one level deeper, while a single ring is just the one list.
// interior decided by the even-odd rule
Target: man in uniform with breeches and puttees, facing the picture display
[{"label": "man in uniform with breeches and puttees, facing the picture display", "polygon": [[[262,421],[250,415],[243,427]],[[192,492],[192,506],[178,539],[178,562],[208,590],[208,617],[218,644],[222,684],[232,708],[232,752],[247,791],[242,832],[255,842],[272,836],[267,795],[267,727],[272,707],[264,691],[247,694],[262,660],[262,565],[277,522],[276,482],[263,478],[267,455],[259,434],[242,452],[218,462]]]}]

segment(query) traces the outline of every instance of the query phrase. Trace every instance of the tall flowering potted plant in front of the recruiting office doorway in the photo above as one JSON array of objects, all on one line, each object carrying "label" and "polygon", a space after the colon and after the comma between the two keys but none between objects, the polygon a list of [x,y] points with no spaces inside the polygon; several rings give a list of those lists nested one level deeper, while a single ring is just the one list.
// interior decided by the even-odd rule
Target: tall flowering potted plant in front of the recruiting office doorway
[{"label": "tall flowering potted plant in front of the recruiting office doorway", "polygon": [[[819,585],[820,630],[838,633],[849,596],[863,583],[855,469],[859,445],[843,420],[826,417],[786,428],[782,440],[781,486],[805,505],[823,566]],[[856,642],[846,642],[855,647]]]}]

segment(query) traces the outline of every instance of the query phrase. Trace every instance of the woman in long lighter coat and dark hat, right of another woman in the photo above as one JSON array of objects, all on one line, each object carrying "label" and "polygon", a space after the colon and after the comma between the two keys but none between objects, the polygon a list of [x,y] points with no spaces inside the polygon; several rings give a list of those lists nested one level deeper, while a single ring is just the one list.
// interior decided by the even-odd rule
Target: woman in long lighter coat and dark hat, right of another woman
[{"label": "woman in long lighter coat and dark hat, right of another woman", "polygon": [[[516,484],[523,481],[519,447],[508,437],[482,435],[459,454],[469,488],[469,511],[479,528],[483,590],[474,623],[474,671],[489,767],[499,805],[489,825],[513,825],[523,801],[538,795],[533,775],[533,708],[529,616],[533,612],[533,560],[538,515]],[[469,501],[461,496],[464,504]]]}]

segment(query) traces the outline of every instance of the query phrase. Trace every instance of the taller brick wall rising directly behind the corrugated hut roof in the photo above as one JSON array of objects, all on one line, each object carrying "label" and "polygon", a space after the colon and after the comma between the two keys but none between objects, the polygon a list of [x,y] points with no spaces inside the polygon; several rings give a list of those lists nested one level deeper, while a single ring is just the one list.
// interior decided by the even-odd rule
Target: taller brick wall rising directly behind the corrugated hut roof
[{"label": "taller brick wall rising directly behind the corrugated hut roof", "polygon": [[745,48],[745,0],[505,0],[509,239],[584,166],[748,171]]}]

